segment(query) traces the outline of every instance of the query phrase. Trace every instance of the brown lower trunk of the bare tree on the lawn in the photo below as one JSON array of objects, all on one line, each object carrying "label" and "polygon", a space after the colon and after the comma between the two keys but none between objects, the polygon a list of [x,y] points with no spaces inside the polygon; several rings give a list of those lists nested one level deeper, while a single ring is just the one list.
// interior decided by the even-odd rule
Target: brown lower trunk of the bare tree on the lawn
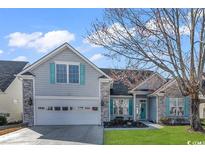
[{"label": "brown lower trunk of the bare tree on the lawn", "polygon": [[198,94],[192,96],[191,101],[191,129],[194,131],[203,131],[199,117],[200,100]]}]

